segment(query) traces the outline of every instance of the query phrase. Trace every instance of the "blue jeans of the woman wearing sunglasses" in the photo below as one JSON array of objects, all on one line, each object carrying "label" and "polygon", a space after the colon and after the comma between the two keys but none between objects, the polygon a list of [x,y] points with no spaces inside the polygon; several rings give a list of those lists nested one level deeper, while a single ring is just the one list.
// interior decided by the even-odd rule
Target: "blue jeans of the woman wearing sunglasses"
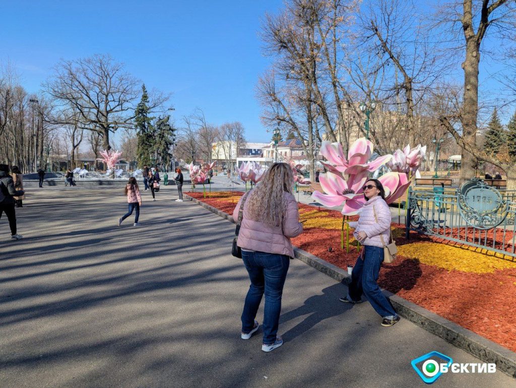
[{"label": "blue jeans of the woman wearing sunglasses", "polygon": [[383,248],[364,245],[364,249],[364,260],[359,257],[351,272],[348,297],[357,301],[364,294],[373,309],[382,317],[396,317],[396,310],[376,283],[383,262]]}]

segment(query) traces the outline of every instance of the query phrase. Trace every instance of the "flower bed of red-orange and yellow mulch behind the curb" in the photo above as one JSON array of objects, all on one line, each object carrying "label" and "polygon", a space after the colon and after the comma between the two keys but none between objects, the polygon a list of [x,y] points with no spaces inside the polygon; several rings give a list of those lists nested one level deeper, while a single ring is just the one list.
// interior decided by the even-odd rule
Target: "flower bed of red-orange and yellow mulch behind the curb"
[{"label": "flower bed of red-orange and yellow mulch behind the curb", "polygon": [[[243,193],[212,192],[211,198],[203,198],[202,192],[187,194],[232,214]],[[301,218],[309,218],[305,224],[316,227],[305,228],[292,239],[293,245],[343,269],[354,265],[358,251],[351,230],[349,252],[341,248],[342,214],[304,204],[299,209]],[[516,351],[516,260],[415,232],[406,240],[404,225],[392,227],[401,255],[395,263],[382,265],[378,284]],[[488,232],[488,238],[493,237],[499,238]]]}]

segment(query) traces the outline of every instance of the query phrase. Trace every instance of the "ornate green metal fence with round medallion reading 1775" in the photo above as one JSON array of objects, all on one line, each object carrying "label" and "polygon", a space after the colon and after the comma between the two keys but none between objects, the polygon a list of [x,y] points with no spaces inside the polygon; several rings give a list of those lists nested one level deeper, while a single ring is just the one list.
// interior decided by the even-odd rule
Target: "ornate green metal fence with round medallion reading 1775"
[{"label": "ornate green metal fence with round medallion reading 1775", "polygon": [[406,237],[411,230],[516,257],[516,191],[481,180],[461,188],[410,189]]}]

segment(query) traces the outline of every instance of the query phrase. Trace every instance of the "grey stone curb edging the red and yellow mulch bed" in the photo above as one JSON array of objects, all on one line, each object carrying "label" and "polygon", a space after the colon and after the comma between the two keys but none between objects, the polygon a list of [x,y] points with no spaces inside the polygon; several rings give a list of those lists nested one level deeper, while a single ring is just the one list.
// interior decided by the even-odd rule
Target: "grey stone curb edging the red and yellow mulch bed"
[{"label": "grey stone curb edging the red and yellow mulch bed", "polygon": [[[229,214],[186,194],[184,196],[186,199],[201,205],[218,216],[233,223],[235,222]],[[294,248],[294,256],[337,282],[347,285],[351,281],[351,277],[346,270],[330,264],[309,252]],[[443,338],[446,342],[465,350],[483,362],[496,364],[497,370],[501,370],[510,377],[516,378],[516,353],[387,290],[383,290],[383,293],[390,299],[400,316]]]}]

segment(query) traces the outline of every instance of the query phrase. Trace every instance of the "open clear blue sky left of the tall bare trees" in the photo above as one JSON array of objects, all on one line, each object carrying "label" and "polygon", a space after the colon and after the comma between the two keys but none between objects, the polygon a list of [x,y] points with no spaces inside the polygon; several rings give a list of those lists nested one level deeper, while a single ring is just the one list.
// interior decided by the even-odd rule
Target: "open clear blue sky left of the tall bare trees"
[{"label": "open clear blue sky left of the tall bare trees", "polygon": [[[109,53],[148,89],[172,92],[179,119],[196,107],[208,122],[240,121],[249,141],[268,141],[255,99],[268,68],[258,36],[281,0],[2,2],[0,60],[37,92],[63,59]],[[179,124],[179,123],[178,123]]]}]

